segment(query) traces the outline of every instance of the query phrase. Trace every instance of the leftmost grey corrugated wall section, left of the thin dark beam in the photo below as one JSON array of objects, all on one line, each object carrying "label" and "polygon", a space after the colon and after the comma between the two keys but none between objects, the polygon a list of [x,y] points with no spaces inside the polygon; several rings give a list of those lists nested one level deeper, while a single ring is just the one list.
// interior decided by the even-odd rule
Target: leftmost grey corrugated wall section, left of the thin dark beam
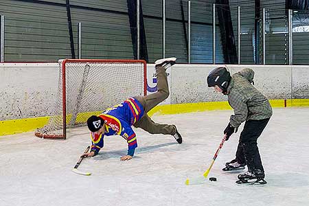
[{"label": "leftmost grey corrugated wall section, left of the thin dark beam", "polygon": [[5,15],[5,61],[55,61],[71,56],[65,7],[0,1],[0,10]]}]

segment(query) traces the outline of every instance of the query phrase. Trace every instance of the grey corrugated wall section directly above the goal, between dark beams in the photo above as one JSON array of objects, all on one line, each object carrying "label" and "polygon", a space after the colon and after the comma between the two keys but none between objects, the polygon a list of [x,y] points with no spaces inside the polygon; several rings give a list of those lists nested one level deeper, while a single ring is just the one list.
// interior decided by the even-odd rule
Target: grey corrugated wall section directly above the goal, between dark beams
[{"label": "grey corrugated wall section directly above the goal, between dark beams", "polygon": [[70,5],[75,36],[82,22],[82,58],[134,58],[126,0],[75,0]]}]

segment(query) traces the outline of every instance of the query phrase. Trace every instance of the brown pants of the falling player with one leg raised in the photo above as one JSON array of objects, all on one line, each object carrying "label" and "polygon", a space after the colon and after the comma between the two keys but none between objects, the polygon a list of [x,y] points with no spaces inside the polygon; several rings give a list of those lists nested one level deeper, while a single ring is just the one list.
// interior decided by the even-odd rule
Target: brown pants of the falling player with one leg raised
[{"label": "brown pants of the falling player with one leg raised", "polygon": [[158,91],[150,95],[135,97],[144,107],[144,116],[133,126],[142,128],[150,134],[174,135],[174,133],[176,133],[176,128],[174,126],[169,124],[157,124],[147,115],[148,111],[157,106],[160,102],[163,102],[163,100],[170,95],[170,91],[168,91],[168,77],[164,67],[156,67],[156,73]]}]

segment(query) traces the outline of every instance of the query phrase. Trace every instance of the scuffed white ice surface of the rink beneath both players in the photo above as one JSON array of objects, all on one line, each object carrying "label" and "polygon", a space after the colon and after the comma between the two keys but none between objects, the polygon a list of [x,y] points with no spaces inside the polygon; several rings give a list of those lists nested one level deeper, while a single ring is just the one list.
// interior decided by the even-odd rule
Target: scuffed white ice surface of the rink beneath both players
[{"label": "scuffed white ice surface of the rink beneath both players", "polygon": [[183,144],[135,129],[139,147],[130,161],[119,160],[127,151],[122,137],[105,137],[99,155],[80,164],[91,176],[71,172],[90,144],[87,128],[70,130],[65,141],[33,133],[0,137],[0,205],[309,205],[309,108],[274,109],[258,140],[267,185],[236,185],[238,173],[221,170],[235,157],[242,127],[209,173],[217,181],[185,185],[209,167],[231,113],[155,115],[155,122],[176,124]]}]

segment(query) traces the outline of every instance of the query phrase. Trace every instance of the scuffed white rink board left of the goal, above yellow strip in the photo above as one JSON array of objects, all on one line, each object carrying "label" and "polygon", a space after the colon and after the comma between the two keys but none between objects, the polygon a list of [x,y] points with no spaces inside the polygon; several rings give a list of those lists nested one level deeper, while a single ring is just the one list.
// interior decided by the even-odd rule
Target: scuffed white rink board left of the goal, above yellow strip
[{"label": "scuffed white rink board left of the goal, above yellow strip", "polygon": [[58,62],[0,63],[0,73],[0,121],[52,114]]}]

